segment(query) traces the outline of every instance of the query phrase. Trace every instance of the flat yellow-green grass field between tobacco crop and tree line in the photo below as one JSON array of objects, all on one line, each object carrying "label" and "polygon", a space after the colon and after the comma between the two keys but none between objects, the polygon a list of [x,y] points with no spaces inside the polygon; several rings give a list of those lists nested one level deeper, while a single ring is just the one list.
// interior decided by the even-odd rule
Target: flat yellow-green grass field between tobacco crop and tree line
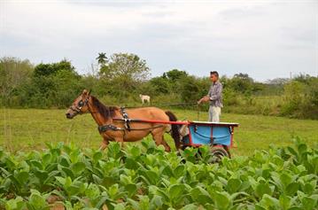
[{"label": "flat yellow-green grass field between tobacco crop and tree line", "polygon": [[[90,114],[67,120],[66,110],[0,109],[0,145],[6,150],[41,150],[45,143],[65,142],[80,147],[98,148],[101,136]],[[180,120],[206,121],[207,113],[173,110]],[[238,122],[235,130],[236,155],[250,155],[269,144],[291,144],[299,136],[306,144],[318,144],[318,121],[292,120],[281,117],[224,113],[221,121]],[[172,139],[167,135],[169,144]]]}]

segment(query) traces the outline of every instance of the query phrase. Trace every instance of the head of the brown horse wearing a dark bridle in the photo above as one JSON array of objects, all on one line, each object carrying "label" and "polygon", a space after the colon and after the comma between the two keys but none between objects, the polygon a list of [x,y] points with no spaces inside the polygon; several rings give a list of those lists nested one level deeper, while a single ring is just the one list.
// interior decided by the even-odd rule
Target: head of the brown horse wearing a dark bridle
[{"label": "head of the brown horse wearing a dark bridle", "polygon": [[74,103],[66,112],[66,118],[72,119],[78,113],[86,113],[89,110],[89,94],[90,91],[84,89],[79,97],[74,100]]}]

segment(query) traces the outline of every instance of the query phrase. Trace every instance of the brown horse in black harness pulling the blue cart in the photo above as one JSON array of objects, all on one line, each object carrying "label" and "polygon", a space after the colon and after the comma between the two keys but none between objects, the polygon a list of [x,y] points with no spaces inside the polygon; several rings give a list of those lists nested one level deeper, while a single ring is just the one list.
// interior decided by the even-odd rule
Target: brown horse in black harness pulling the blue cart
[{"label": "brown horse in black harness pulling the blue cart", "polygon": [[[103,105],[97,97],[90,96],[84,89],[73,105],[66,112],[66,118],[72,119],[77,114],[90,113],[97,122],[103,142],[100,147],[104,150],[109,141],[135,142],[144,136],[151,134],[157,145],[163,144],[166,151],[170,151],[169,145],[164,139],[164,134],[171,129],[171,135],[175,140],[175,147],[180,146],[180,136],[177,125],[159,124],[151,122],[130,121],[125,123],[125,115],[129,119],[142,119],[146,121],[177,121],[175,114],[156,107],[143,107],[122,110],[118,106]],[[128,119],[126,118],[126,119]],[[113,119],[121,119],[114,121]]]}]

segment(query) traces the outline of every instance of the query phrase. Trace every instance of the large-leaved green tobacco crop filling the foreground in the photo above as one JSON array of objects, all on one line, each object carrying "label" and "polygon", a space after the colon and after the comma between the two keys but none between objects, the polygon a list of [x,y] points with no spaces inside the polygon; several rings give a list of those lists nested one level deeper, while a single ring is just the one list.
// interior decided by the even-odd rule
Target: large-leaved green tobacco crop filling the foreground
[{"label": "large-leaved green tobacco crop filling the foreground", "polygon": [[316,146],[296,139],[219,164],[211,158],[207,146],[164,152],[150,139],[105,152],[0,148],[0,209],[318,209]]}]

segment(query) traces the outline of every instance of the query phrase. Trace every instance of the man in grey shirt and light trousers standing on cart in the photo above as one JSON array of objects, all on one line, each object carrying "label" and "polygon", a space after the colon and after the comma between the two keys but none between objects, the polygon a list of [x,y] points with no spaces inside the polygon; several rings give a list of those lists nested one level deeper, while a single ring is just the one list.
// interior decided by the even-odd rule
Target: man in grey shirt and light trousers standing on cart
[{"label": "man in grey shirt and light trousers standing on cart", "polygon": [[198,104],[202,102],[210,102],[209,121],[220,122],[222,105],[222,84],[219,81],[219,74],[216,71],[210,72],[210,80],[212,83],[207,96],[198,100]]}]

